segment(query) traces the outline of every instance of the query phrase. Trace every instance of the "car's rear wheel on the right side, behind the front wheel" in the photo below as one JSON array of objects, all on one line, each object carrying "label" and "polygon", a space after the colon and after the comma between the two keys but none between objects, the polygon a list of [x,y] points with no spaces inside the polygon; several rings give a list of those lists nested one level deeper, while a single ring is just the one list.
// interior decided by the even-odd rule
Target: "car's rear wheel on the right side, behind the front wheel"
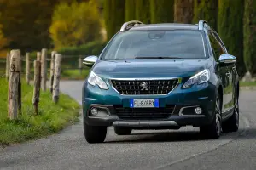
[{"label": "car's rear wheel on the right side, behind the front wheel", "polygon": [[223,123],[222,129],[225,133],[236,132],[239,128],[239,104],[237,97],[235,102],[235,110],[232,116],[230,116],[229,120]]}]

